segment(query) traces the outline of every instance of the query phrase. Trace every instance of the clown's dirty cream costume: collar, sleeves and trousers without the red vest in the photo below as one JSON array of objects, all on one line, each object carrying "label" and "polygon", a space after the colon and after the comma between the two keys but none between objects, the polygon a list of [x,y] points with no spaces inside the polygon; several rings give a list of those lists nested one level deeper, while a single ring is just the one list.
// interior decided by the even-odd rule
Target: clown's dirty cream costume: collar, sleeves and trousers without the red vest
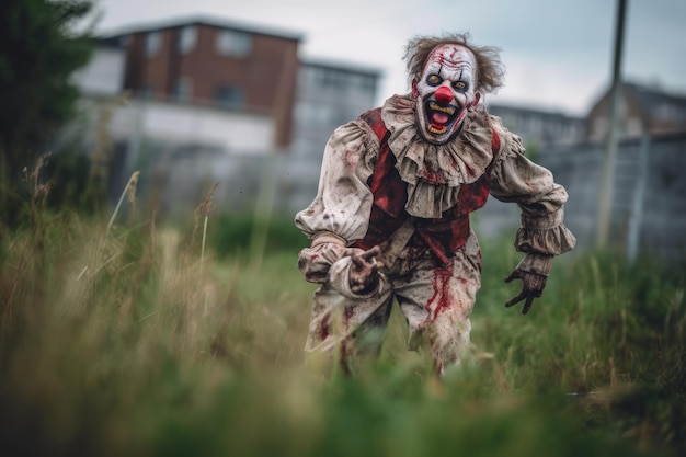
[{"label": "clown's dirty cream costume: collar, sleeves and trousers without the red vest", "polygon": [[[405,210],[415,218],[439,218],[451,208],[464,184],[490,172],[490,195],[516,203],[522,212],[515,247],[526,253],[517,269],[547,276],[553,255],[574,247],[563,225],[565,190],[550,171],[524,156],[521,139],[479,105],[461,132],[445,145],[431,145],[416,132],[415,100],[395,95],[381,118],[396,169],[408,184]],[[491,147],[492,130],[500,148]],[[379,153],[379,139],[362,119],[339,127],[329,139],[319,188],[310,206],[296,215],[296,226],[310,239],[299,266],[322,286],[315,294],[307,351],[327,351],[341,342],[344,355],[378,352],[396,298],[410,327],[410,341],[425,340],[439,370],[457,363],[469,344],[469,315],[480,287],[481,254],[473,232],[451,263],[441,265],[431,252],[401,252],[386,265],[377,289],[359,296],[348,285],[351,259],[345,248],[365,237],[374,196],[367,185]],[[318,241],[319,240],[319,241]],[[306,274],[307,276],[307,274]],[[343,329],[333,331],[334,312]],[[371,330],[380,330],[371,331]],[[336,334],[334,334],[336,333]],[[369,336],[377,335],[377,336]],[[361,341],[363,343],[361,343]]]}]

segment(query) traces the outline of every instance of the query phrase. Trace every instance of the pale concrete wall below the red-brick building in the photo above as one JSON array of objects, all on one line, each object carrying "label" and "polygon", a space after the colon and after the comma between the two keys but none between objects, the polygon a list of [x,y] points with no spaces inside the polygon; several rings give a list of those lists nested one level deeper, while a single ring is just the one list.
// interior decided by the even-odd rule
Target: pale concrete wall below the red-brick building
[{"label": "pale concrete wall below the red-brick building", "polygon": [[226,203],[221,209],[253,204],[262,169],[278,155],[275,123],[267,115],[113,98],[83,99],[80,110],[81,122],[62,142],[82,136],[92,160],[104,146],[98,160],[107,162],[111,202],[139,171],[139,196],[161,217],[192,215],[214,182],[220,183],[216,199]]}]

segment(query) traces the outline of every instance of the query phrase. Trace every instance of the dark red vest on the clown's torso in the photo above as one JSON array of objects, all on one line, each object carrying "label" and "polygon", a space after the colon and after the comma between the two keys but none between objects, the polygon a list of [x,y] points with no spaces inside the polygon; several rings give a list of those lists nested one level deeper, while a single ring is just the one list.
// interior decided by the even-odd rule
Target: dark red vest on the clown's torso
[{"label": "dark red vest on the clown's torso", "polygon": [[[374,205],[369,216],[369,228],[356,248],[370,249],[388,240],[390,236],[410,217],[404,206],[408,201],[408,183],[400,179],[396,169],[396,156],[388,146],[390,132],[381,119],[381,108],[376,108],[359,116],[379,138],[379,155],[367,184],[374,195]],[[500,138],[492,130],[491,148],[493,153],[500,148]],[[445,210],[441,218],[414,218],[415,232],[408,245],[420,250],[431,249],[443,262],[455,255],[469,238],[469,213],[479,209],[489,197],[491,165],[473,183],[462,184],[457,204]]]}]

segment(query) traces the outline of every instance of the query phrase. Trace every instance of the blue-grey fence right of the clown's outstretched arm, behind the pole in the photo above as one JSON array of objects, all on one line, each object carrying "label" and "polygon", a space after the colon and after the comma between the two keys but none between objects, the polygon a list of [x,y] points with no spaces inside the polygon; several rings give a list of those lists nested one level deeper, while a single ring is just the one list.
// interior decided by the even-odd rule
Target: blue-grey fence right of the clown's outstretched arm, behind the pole
[{"label": "blue-grey fence right of the clown's outstretched arm, behind the pole", "polygon": [[[546,151],[538,160],[570,194],[565,225],[581,250],[595,243],[603,153],[604,145],[587,142]],[[686,260],[685,170],[686,133],[620,141],[610,245],[630,259],[647,253]]]}]

